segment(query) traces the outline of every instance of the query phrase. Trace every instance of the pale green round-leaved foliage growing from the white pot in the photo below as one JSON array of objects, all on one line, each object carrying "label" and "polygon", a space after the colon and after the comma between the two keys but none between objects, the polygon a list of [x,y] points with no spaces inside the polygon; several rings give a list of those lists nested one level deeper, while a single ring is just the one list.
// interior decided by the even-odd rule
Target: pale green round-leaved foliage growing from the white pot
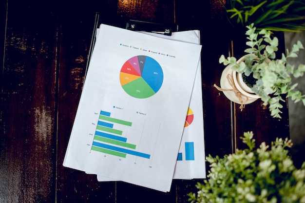
[{"label": "pale green round-leaved foliage growing from the white pot", "polygon": [[247,48],[245,50],[248,55],[246,61],[237,63],[236,58],[225,58],[222,55],[219,59],[220,63],[230,65],[231,69],[238,73],[244,73],[249,76],[253,73],[253,78],[257,79],[256,84],[251,90],[261,97],[264,102],[263,105],[269,105],[271,116],[281,118],[280,113],[283,105],[280,101],[282,94],[287,94],[292,101],[302,101],[305,105],[305,95],[298,90],[295,90],[297,83],[292,84],[291,77],[302,77],[305,72],[305,65],[300,64],[294,67],[287,62],[288,58],[298,57],[300,49],[304,49],[300,41],[294,44],[292,50],[286,50],[286,55],[282,54],[281,59],[276,58],[276,51],[278,51],[278,39],[272,37],[269,30],[256,31],[253,23],[247,26],[248,30],[246,35],[248,41],[246,42]]}]

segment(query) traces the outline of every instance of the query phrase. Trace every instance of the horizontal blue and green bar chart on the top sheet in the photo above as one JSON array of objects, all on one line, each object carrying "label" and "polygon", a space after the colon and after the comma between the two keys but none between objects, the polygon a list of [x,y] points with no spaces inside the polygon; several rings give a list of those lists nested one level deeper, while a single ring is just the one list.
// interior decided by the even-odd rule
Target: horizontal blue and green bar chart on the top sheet
[{"label": "horizontal blue and green bar chart on the top sheet", "polygon": [[136,151],[136,145],[122,137],[123,131],[115,125],[132,126],[132,122],[111,117],[111,112],[100,111],[91,150],[126,158],[127,154],[150,159],[151,155]]}]

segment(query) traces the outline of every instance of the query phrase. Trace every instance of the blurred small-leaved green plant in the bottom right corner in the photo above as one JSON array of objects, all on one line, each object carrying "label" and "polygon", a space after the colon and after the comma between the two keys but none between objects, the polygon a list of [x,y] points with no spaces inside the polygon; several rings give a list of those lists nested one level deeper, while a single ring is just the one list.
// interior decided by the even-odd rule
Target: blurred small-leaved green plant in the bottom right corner
[{"label": "blurred small-leaved green plant in the bottom right corner", "polygon": [[255,149],[252,132],[241,137],[248,148],[233,154],[207,157],[208,178],[197,183],[194,203],[305,203],[305,162],[297,169],[287,148],[287,138],[265,142]]}]

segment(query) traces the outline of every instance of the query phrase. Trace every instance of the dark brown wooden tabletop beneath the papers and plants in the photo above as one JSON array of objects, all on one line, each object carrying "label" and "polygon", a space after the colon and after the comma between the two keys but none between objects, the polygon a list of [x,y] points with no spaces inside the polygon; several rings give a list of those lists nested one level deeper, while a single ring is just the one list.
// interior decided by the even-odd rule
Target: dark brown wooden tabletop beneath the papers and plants
[{"label": "dark brown wooden tabletop beneath the papers and plants", "polygon": [[[260,101],[240,112],[213,87],[219,57],[243,55],[243,33],[230,27],[219,0],[6,0],[0,5],[0,203],[182,203],[200,180],[174,180],[163,193],[62,166],[82,90],[95,13],[200,29],[206,154],[223,156],[253,131],[257,142],[288,137],[288,109],[273,119]],[[279,34],[279,36],[282,36]],[[284,50],[284,39],[280,46]]]}]

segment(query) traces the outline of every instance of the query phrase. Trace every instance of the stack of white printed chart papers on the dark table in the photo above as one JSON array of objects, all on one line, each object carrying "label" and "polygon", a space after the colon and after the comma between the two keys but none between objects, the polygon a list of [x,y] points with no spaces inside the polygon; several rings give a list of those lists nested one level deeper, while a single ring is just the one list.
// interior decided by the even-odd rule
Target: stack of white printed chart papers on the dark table
[{"label": "stack of white printed chart papers on the dark table", "polygon": [[200,51],[199,31],[101,24],[63,165],[163,192],[205,178]]}]

